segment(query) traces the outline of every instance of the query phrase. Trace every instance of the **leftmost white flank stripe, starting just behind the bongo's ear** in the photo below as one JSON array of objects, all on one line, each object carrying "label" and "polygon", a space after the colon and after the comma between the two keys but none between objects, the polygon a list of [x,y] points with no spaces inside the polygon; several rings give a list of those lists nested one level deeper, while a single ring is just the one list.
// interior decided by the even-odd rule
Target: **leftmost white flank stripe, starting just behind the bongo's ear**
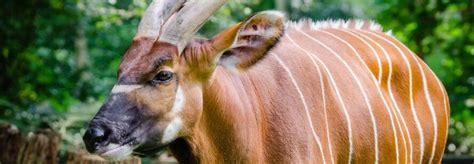
[{"label": "leftmost white flank stripe, starting just behind the bongo's ear", "polygon": [[285,69],[286,73],[288,73],[288,76],[290,77],[291,79],[291,82],[293,83],[293,86],[296,88],[296,91],[298,91],[298,94],[301,98],[301,101],[303,103],[303,106],[304,106],[304,109],[306,111],[306,116],[308,117],[308,121],[309,121],[309,126],[311,127],[311,132],[313,133],[313,137],[314,139],[316,140],[316,143],[318,144],[319,146],[319,150],[321,151],[321,155],[322,155],[322,159],[323,159],[323,163],[326,163],[326,160],[324,158],[324,152],[323,152],[323,148],[322,148],[322,145],[321,145],[321,141],[319,140],[319,137],[318,135],[316,134],[316,132],[314,131],[314,127],[313,127],[313,121],[311,120],[311,116],[309,114],[309,110],[308,110],[308,105],[306,104],[306,100],[304,98],[304,95],[303,95],[303,92],[301,92],[301,89],[300,87],[298,86],[298,83],[296,82],[296,79],[293,77],[293,74],[291,73],[290,69],[285,65],[285,63],[280,59],[280,57],[278,57],[278,55],[276,53],[272,53],[273,56],[275,56],[275,59],[278,61],[278,63],[283,67],[283,69]]}]

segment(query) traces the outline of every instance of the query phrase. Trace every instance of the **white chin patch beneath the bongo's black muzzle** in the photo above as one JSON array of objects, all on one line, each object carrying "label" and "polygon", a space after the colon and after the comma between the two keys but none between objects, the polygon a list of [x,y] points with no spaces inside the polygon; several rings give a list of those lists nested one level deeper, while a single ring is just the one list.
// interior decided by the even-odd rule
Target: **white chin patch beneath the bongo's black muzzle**
[{"label": "white chin patch beneath the bongo's black muzzle", "polygon": [[130,145],[117,145],[117,144],[109,144],[106,147],[106,152],[99,154],[102,158],[107,160],[122,160],[127,158],[133,152],[133,148]]}]

